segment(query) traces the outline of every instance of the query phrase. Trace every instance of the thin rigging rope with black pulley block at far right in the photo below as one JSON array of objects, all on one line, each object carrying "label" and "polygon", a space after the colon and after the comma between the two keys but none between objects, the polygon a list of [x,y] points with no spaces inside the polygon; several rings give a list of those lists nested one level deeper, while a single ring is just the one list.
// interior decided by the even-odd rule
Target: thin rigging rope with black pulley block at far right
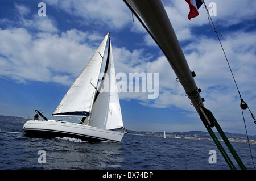
[{"label": "thin rigging rope with black pulley block at far right", "polygon": [[[218,37],[218,41],[220,42],[222,51],[223,51],[224,56],[225,56],[225,58],[226,58],[226,62],[228,63],[229,70],[230,70],[230,72],[231,72],[231,74],[232,74],[234,83],[235,83],[235,85],[236,85],[236,87],[237,87],[237,91],[238,91],[238,94],[239,94],[240,100],[241,100],[240,107],[241,107],[241,110],[242,110],[243,123],[245,124],[245,117],[244,117],[244,115],[243,115],[243,110],[246,110],[246,109],[248,108],[248,110],[250,111],[250,109],[249,109],[248,105],[245,103],[245,101],[242,99],[241,93],[240,93],[240,91],[239,91],[239,89],[238,89],[236,79],[234,78],[233,71],[232,71],[232,69],[231,69],[231,67],[230,67],[230,64],[229,64],[229,61],[228,61],[228,57],[226,56],[225,50],[224,50],[224,48],[223,48],[223,46],[222,46],[222,44],[221,44],[220,37],[218,36],[218,34],[221,35],[221,33],[216,30],[216,28],[215,28],[215,26],[214,26],[214,24],[213,24],[213,20],[212,20],[210,14],[209,14],[209,11],[208,11],[208,9],[207,9],[207,6],[205,5],[204,0],[202,0],[202,2],[204,3],[204,8],[205,8],[205,10],[207,10],[207,16],[208,16],[208,21],[209,21],[210,27],[212,28],[212,30],[213,30],[214,32],[216,32],[216,35],[217,35],[217,37]],[[212,23],[211,23],[211,22],[212,22]],[[221,36],[222,36],[222,35],[221,35]],[[256,124],[256,120],[255,120],[255,117],[254,117],[253,113],[252,113],[251,111],[250,111],[250,113],[251,113],[251,117],[253,117],[253,119],[254,119],[254,123]],[[217,128],[217,127],[216,127],[216,128]],[[249,149],[250,149],[251,159],[252,159],[252,161],[253,161],[253,155],[252,155],[252,153],[251,153],[250,141],[249,141],[249,137],[248,137],[248,133],[247,133],[247,129],[246,129],[246,124],[245,124],[245,131],[246,131],[247,141],[248,141],[248,145],[249,145]],[[254,169],[255,169],[254,161],[253,161],[253,166],[254,166]]]}]

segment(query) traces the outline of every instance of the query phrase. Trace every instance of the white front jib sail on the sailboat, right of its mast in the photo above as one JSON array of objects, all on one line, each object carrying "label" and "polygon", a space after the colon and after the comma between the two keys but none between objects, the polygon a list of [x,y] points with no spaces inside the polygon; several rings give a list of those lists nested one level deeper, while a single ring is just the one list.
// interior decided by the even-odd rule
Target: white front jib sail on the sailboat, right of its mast
[{"label": "white front jib sail on the sailboat, right of its mast", "polygon": [[106,65],[106,75],[102,87],[92,108],[89,125],[103,129],[123,127],[121,107],[117,92],[112,46],[109,39],[109,52]]}]

